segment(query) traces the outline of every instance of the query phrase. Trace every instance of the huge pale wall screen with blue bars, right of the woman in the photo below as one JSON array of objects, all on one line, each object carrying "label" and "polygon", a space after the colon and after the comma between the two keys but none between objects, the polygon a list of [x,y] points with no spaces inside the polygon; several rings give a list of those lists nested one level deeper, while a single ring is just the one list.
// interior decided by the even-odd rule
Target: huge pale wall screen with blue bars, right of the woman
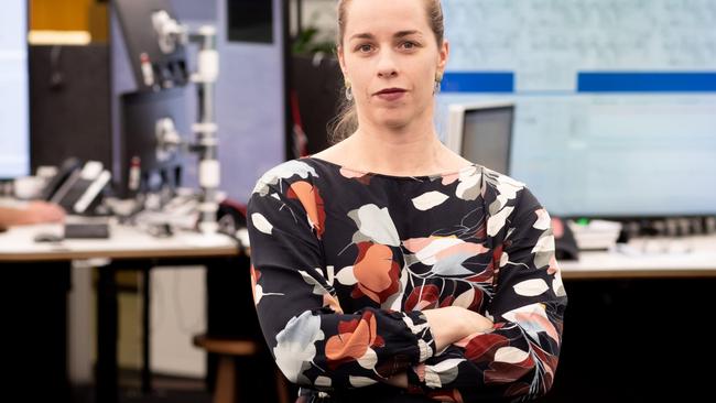
[{"label": "huge pale wall screen with blue bars, right of the woman", "polygon": [[716,1],[443,7],[438,126],[449,104],[513,102],[510,173],[551,213],[716,214]]}]

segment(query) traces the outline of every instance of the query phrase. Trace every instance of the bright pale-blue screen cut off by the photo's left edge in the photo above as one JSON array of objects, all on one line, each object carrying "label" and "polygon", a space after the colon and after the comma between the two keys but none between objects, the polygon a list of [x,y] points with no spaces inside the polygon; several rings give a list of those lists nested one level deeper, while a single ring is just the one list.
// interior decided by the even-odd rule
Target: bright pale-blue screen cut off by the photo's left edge
[{"label": "bright pale-blue screen cut off by the photo's left edge", "polygon": [[3,2],[0,13],[0,179],[29,174],[28,2]]}]

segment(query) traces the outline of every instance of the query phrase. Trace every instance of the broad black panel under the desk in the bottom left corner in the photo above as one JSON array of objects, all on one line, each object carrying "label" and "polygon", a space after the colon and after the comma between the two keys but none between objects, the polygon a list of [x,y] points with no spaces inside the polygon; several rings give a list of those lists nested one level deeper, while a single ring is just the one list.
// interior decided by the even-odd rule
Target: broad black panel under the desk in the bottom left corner
[{"label": "broad black panel under the desk in the bottom left corner", "polygon": [[69,262],[0,262],[2,401],[70,402],[67,377]]}]

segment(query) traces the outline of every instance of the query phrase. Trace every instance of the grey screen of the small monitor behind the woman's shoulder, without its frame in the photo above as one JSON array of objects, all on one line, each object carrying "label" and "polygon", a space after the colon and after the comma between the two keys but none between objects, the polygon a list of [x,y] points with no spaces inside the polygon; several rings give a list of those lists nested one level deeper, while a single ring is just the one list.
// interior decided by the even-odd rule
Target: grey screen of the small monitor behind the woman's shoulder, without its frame
[{"label": "grey screen of the small monitor behind the woman's shoulder, without its frame", "polygon": [[460,155],[509,174],[513,111],[512,106],[466,108]]}]

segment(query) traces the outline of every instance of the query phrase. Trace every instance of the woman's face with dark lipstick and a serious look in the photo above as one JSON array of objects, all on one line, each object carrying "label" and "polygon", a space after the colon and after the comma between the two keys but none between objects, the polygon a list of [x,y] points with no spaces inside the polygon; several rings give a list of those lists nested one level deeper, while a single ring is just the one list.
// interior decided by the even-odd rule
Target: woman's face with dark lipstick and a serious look
[{"label": "woman's face with dark lipstick and a serious look", "polygon": [[[359,120],[403,128],[432,111],[435,77],[447,63],[423,0],[352,0],[338,58]],[[431,116],[432,122],[432,116]]]}]

